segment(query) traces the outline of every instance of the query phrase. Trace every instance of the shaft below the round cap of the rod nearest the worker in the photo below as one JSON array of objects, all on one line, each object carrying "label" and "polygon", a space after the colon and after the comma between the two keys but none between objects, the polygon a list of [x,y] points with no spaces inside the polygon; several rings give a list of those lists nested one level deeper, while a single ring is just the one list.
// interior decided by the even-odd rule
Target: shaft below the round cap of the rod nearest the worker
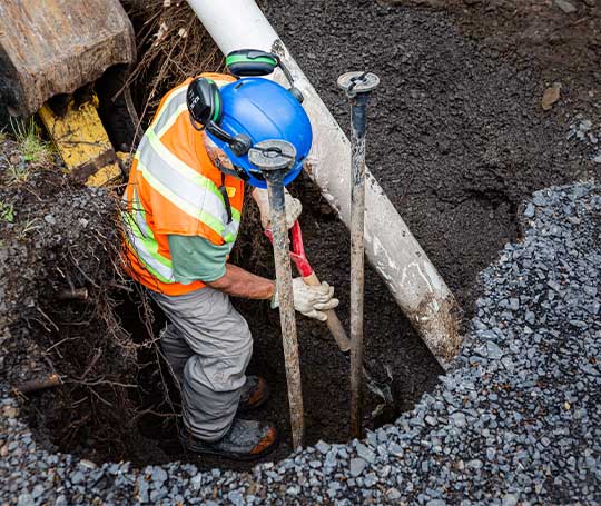
[{"label": "shaft below the round cap of the rod nearest the worker", "polygon": [[272,208],[272,230],[274,234],[274,259],[276,268],[279,320],[284,341],[286,379],[288,383],[288,404],[294,448],[303,446],[305,420],[303,410],[303,388],[298,339],[296,336],[296,315],[292,286],[288,228],[284,199],[284,171],[266,175],[269,206]]}]

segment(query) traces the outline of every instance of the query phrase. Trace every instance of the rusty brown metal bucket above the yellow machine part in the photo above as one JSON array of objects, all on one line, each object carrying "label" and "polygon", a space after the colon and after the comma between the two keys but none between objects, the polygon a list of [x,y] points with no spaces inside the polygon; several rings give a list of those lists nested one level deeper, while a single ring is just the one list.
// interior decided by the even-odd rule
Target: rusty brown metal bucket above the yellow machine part
[{"label": "rusty brown metal bucket above the yellow machine part", "polygon": [[13,116],[30,116],[135,59],[134,28],[119,0],[0,2],[0,95]]}]

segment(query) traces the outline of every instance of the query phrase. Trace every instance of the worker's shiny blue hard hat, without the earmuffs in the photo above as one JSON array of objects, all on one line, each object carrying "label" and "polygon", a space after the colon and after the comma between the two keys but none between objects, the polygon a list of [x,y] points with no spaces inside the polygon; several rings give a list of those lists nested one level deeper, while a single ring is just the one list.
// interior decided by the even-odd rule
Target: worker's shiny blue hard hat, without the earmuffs
[{"label": "worker's shiny blue hard hat, without the earmuffs", "polygon": [[[303,170],[313,141],[311,121],[300,102],[286,88],[265,78],[243,78],[219,91],[223,108],[219,127],[227,133],[245,133],[253,146],[263,140],[278,139],[296,148],[295,163],[284,178],[284,185],[292,182]],[[267,188],[262,173],[248,160],[248,153],[236,156],[226,141],[208,129],[207,135],[233,165],[246,172],[250,185]]]}]

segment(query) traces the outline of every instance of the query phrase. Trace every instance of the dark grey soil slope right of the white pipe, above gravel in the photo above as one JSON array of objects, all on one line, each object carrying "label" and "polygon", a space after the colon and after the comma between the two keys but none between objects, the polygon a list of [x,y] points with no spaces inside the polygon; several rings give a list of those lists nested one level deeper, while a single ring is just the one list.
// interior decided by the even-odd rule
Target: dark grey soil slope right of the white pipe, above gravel
[{"label": "dark grey soil slope right of the white pipe, above gravel", "polygon": [[337,76],[381,77],[368,166],[467,310],[476,274],[518,232],[524,196],[591,170],[565,141],[568,106],[540,108],[545,85],[533,66],[484,56],[446,14],[366,0],[274,0],[267,17],[343,128],[348,107]]}]

